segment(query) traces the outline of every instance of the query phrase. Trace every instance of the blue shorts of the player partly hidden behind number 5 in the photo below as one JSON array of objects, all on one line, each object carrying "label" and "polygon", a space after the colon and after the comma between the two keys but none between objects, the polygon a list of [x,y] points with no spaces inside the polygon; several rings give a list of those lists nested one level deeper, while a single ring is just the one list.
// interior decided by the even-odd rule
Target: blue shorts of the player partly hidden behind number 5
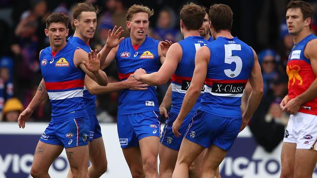
[{"label": "blue shorts of the player partly hidden behind number 5", "polygon": [[191,123],[194,115],[187,115],[183,121],[183,124],[179,127],[178,132],[181,133],[181,137],[176,137],[173,134],[172,126],[174,121],[176,120],[178,113],[169,112],[168,119],[165,122],[165,126],[162,131],[162,137],[160,138],[160,142],[173,150],[179,150],[180,143],[183,140],[183,136],[185,135],[189,124]]}]

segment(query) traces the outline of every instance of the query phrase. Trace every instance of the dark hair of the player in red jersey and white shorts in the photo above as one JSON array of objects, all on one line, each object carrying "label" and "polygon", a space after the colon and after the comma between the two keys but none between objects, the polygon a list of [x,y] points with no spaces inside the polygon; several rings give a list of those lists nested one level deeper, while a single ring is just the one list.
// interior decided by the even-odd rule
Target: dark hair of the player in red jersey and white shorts
[{"label": "dark hair of the player in red jersey and white shorts", "polygon": [[290,1],[286,6],[286,11],[288,9],[299,8],[303,14],[303,19],[314,17],[314,8],[308,2],[302,0],[293,0]]}]

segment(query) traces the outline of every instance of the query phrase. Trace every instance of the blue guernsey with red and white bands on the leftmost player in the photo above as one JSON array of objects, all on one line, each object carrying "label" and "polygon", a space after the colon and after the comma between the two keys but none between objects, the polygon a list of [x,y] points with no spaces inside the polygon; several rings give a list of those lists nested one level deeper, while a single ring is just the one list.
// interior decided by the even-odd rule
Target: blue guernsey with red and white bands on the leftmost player
[{"label": "blue guernsey with red and white bands on the leftmost player", "polygon": [[52,107],[52,123],[88,117],[82,101],[85,73],[76,68],[73,57],[77,47],[67,43],[57,53],[51,47],[40,53],[40,69]]}]

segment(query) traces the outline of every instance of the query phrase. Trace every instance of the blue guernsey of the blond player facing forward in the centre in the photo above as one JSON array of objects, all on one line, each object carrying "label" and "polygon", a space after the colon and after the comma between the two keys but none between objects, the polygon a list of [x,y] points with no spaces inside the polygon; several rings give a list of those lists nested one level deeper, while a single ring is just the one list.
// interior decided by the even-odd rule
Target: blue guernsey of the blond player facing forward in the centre
[{"label": "blue guernsey of the blond player facing forward in the centre", "polygon": [[[161,66],[158,43],[158,40],[146,36],[144,42],[135,50],[130,37],[121,41],[116,54],[119,79],[127,79],[139,68],[143,68],[147,73],[158,71]],[[150,86],[146,90],[123,89],[120,92],[119,115],[147,111],[158,111],[156,87]]]}]

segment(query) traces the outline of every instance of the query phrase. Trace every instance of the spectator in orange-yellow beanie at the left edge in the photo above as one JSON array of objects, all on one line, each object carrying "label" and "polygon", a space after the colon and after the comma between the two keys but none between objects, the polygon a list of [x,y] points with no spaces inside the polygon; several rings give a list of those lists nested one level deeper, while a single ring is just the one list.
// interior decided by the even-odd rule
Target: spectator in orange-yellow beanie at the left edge
[{"label": "spectator in orange-yellow beanie at the left edge", "polygon": [[23,105],[18,98],[11,98],[5,102],[2,110],[3,122],[17,122],[20,113],[23,111]]}]

